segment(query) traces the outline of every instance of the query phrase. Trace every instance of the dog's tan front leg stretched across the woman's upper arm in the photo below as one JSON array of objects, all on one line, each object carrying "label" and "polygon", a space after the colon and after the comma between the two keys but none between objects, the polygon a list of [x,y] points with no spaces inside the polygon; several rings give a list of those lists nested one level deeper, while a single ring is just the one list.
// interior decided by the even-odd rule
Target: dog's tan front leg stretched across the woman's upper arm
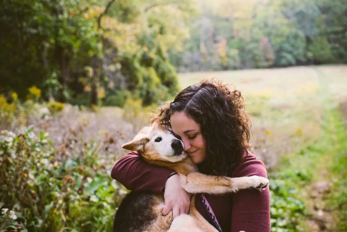
[{"label": "dog's tan front leg stretched across the woman's upper arm", "polygon": [[217,177],[201,173],[180,175],[181,185],[189,193],[222,194],[236,192],[240,189],[264,189],[269,180],[261,176]]}]

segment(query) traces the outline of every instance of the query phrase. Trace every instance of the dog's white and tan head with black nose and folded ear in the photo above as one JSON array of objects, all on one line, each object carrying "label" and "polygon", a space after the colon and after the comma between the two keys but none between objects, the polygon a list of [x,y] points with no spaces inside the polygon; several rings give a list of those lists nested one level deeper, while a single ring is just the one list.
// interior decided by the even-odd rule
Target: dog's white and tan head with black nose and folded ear
[{"label": "dog's white and tan head with black nose and folded ear", "polygon": [[123,144],[122,148],[129,151],[139,151],[142,157],[149,160],[175,163],[188,157],[184,151],[183,143],[158,125],[142,128],[135,138]]}]

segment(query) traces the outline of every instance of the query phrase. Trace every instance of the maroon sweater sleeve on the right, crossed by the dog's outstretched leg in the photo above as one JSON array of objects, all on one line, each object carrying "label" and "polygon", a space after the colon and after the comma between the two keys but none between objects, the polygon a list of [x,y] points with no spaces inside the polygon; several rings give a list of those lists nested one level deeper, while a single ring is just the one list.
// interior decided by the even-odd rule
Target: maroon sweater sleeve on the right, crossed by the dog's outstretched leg
[{"label": "maroon sweater sleeve on the right, crossed by the dog's outstretched leg", "polygon": [[[247,159],[247,158],[246,158]],[[267,178],[265,166],[259,159],[242,163],[234,171],[234,177],[258,175]],[[232,199],[231,232],[270,231],[270,192],[256,189],[240,190]]]}]

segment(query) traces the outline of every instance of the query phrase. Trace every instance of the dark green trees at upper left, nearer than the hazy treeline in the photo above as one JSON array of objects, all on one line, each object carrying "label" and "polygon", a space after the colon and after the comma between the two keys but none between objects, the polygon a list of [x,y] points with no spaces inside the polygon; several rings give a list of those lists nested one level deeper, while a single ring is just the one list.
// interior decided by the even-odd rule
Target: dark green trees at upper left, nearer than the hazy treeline
[{"label": "dark green trees at upper left, nearer than the hazy treeline", "polygon": [[[165,57],[169,46],[177,47],[187,37],[181,24],[192,8],[190,1],[151,4],[14,0],[0,6],[5,34],[0,40],[0,93],[14,90],[24,100],[35,85],[45,100],[91,105],[105,97],[100,90],[113,85],[111,95],[130,90],[145,105],[166,100],[177,74]],[[177,14],[185,18],[168,24],[166,17],[158,17],[173,10],[172,19]],[[156,57],[162,59],[159,65]],[[159,73],[153,73],[154,66]],[[145,87],[138,84],[147,81]]]}]

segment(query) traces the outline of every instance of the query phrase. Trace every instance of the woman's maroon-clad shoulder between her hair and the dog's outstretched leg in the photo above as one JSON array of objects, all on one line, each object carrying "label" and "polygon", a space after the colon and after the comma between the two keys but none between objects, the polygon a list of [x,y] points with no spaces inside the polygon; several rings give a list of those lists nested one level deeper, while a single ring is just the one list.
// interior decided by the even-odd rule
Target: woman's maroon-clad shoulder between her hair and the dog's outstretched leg
[{"label": "woman's maroon-clad shoulder between her hair and the dog's outstretched leg", "polygon": [[248,155],[243,155],[242,160],[236,166],[232,177],[241,176],[263,176],[267,178],[267,172],[264,163],[258,159],[252,152],[248,151]]}]

